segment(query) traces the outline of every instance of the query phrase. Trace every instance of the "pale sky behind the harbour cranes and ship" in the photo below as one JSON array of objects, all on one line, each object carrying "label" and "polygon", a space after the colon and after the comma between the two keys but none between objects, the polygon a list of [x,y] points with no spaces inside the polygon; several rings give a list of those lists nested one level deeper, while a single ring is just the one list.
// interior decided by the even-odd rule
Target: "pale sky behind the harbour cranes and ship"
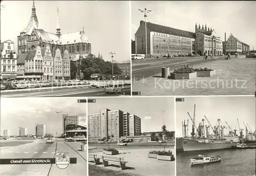
[{"label": "pale sky behind the harbour cranes and ship", "polygon": [[[232,129],[245,129],[244,123],[248,123],[251,130],[255,130],[255,97],[186,97],[184,102],[176,102],[176,134],[182,136],[182,123],[188,119],[188,133],[191,133],[192,121],[187,112],[193,118],[194,105],[196,103],[196,125],[198,126],[204,116],[207,117],[210,124],[215,126],[217,120],[228,127],[225,121]],[[205,119],[205,118],[204,118]],[[243,123],[244,122],[244,123]],[[205,122],[207,125],[207,121]],[[220,125],[223,125],[220,122]],[[249,129],[248,129],[249,130]],[[224,134],[228,134],[229,129],[224,129]],[[210,129],[210,134],[212,130]],[[244,130],[245,135],[245,130]]]}]

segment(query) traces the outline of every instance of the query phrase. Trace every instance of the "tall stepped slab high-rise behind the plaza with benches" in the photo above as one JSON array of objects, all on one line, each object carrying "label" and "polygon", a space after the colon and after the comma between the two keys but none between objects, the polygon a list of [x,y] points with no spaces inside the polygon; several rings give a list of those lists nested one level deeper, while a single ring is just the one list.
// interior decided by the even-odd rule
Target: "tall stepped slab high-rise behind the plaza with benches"
[{"label": "tall stepped slab high-rise behind the plaza with benches", "polygon": [[98,142],[108,136],[119,141],[123,136],[140,135],[140,118],[117,109],[101,109],[100,113],[88,115],[89,142]]}]

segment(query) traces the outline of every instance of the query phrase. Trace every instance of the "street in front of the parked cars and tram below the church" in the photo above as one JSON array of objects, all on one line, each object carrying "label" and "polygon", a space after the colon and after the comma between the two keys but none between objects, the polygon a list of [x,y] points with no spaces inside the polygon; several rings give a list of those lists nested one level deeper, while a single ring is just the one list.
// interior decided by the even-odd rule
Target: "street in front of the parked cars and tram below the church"
[{"label": "street in front of the parked cars and tram below the church", "polygon": [[[125,95],[131,95],[131,86],[124,86]],[[123,96],[121,94],[106,94],[103,88],[89,87],[63,87],[59,89],[31,89],[1,91],[1,97],[105,97],[105,96]]]}]

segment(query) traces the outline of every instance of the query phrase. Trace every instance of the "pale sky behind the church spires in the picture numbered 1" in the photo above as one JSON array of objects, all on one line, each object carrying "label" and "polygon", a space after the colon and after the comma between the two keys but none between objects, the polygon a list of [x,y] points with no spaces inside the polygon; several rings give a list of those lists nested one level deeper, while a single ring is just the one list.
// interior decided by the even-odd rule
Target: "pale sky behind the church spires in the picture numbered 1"
[{"label": "pale sky behind the church spires in the picture numbered 1", "polygon": [[[12,40],[17,50],[17,36],[27,27],[33,1],[1,1],[1,41]],[[2,7],[4,6],[4,7]],[[130,60],[129,1],[35,1],[39,28],[56,33],[57,8],[61,33],[84,32],[91,42],[92,54],[116,53],[114,60]]]}]

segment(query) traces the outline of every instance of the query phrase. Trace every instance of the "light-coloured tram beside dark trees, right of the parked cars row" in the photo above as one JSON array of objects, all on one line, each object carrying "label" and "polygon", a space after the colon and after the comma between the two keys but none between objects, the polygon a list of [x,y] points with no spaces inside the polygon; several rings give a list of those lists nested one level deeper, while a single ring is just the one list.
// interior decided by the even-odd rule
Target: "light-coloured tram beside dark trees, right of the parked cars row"
[{"label": "light-coloured tram beside dark trees, right of the parked cars row", "polygon": [[124,75],[93,74],[91,75],[90,84],[93,87],[106,87],[109,84],[130,85],[131,77]]}]

